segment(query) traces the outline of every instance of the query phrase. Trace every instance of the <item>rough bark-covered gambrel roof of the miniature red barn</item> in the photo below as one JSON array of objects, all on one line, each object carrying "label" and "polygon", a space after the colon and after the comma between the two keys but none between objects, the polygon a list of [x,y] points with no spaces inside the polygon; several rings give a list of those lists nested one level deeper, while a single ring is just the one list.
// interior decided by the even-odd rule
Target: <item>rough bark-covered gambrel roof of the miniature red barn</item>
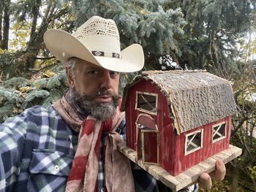
[{"label": "rough bark-covered gambrel roof of the miniature red barn", "polygon": [[167,98],[178,134],[236,113],[230,82],[203,70],[143,72],[124,89],[123,104],[128,88],[143,79]]}]

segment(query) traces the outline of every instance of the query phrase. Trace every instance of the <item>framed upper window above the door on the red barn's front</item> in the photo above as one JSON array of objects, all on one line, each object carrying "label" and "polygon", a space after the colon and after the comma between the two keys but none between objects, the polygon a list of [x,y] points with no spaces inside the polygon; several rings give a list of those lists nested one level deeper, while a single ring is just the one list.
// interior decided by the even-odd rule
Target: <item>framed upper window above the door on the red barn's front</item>
[{"label": "framed upper window above the door on the red barn's front", "polygon": [[157,115],[157,93],[145,93],[137,91],[136,110]]}]

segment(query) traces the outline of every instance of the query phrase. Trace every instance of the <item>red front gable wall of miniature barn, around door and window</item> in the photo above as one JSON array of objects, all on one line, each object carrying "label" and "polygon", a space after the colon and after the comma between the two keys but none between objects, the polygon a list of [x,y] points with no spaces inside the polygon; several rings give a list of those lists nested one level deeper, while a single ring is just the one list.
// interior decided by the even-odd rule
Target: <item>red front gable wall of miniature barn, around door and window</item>
[{"label": "red front gable wall of miniature barn, around door and window", "polygon": [[[135,110],[136,91],[157,93],[158,94],[158,107],[157,115],[150,115],[151,118],[157,123],[159,128],[159,164],[165,169],[174,169],[174,134],[172,120],[169,118],[169,111],[167,107],[167,99],[151,82],[141,80],[129,87],[129,99],[127,99],[126,106],[126,118],[127,118],[127,146],[136,150],[136,127],[135,122],[140,115],[138,110]],[[149,115],[149,114],[148,114]]]}]

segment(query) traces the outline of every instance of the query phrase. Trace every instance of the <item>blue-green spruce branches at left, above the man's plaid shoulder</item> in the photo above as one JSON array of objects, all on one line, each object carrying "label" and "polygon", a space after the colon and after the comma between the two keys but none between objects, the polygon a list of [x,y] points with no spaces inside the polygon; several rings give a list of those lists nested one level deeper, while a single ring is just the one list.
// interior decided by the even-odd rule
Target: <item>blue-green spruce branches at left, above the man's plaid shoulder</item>
[{"label": "blue-green spruce branches at left, above the man's plaid shoulder", "polygon": [[64,70],[52,77],[27,80],[12,77],[0,84],[0,122],[34,105],[48,107],[67,90]]}]

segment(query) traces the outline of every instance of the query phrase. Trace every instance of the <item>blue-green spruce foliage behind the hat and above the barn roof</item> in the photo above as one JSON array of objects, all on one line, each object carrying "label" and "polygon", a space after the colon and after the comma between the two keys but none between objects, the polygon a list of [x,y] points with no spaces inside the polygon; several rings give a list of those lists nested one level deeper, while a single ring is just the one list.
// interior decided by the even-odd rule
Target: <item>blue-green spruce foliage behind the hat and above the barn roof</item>
[{"label": "blue-green spruce foliage behind the hat and above the barn roof", "polygon": [[75,0],[72,5],[76,26],[92,15],[113,18],[123,48],[135,42],[143,45],[146,69],[160,69],[161,58],[183,69],[211,72],[236,69],[236,45],[252,29],[256,6],[255,0]]}]

